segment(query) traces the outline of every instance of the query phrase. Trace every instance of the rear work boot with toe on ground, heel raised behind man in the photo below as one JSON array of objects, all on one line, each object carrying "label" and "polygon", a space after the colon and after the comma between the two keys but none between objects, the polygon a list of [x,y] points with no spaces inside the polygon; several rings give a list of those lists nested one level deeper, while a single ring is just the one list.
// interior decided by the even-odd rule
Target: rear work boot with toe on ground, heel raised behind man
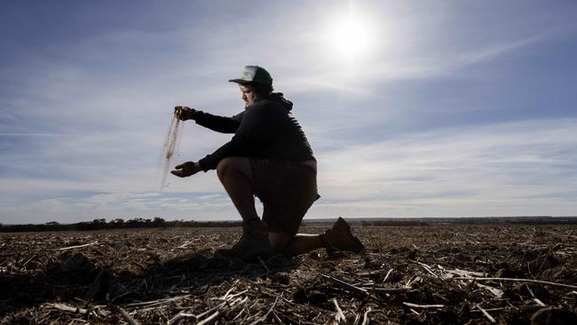
[{"label": "rear work boot with toe on ground, heel raised behind man", "polygon": [[359,253],[365,249],[365,245],[360,242],[359,238],[352,235],[351,227],[344,221],[344,218],[338,218],[331,229],[320,235],[320,240],[328,256],[336,256],[338,250]]}]

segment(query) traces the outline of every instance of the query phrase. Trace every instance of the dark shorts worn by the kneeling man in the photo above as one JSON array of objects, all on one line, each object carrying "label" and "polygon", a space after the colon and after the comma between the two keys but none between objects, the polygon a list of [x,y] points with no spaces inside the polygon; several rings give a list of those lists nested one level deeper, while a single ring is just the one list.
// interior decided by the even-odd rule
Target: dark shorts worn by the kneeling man
[{"label": "dark shorts worn by the kneeling man", "polygon": [[300,163],[250,158],[255,195],[273,233],[296,234],[304,214],[320,198],[317,172]]}]

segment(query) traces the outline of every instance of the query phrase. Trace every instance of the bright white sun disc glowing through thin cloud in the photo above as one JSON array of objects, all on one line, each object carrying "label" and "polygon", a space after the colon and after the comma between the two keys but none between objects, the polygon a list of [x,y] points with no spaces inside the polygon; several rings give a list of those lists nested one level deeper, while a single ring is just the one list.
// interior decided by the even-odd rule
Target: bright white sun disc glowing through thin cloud
[{"label": "bright white sun disc glowing through thin cloud", "polygon": [[331,21],[326,34],[329,52],[340,59],[361,59],[371,51],[368,21],[352,13]]}]

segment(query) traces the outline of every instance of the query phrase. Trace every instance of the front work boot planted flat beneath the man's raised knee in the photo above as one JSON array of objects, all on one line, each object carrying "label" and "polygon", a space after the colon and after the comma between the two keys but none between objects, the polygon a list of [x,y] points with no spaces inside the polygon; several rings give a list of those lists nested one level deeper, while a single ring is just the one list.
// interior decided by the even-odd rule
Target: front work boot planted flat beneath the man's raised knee
[{"label": "front work boot planted flat beneath the man's raised knee", "polygon": [[254,259],[273,254],[265,222],[259,218],[242,221],[242,236],[233,247],[217,250],[215,253],[225,258]]}]

